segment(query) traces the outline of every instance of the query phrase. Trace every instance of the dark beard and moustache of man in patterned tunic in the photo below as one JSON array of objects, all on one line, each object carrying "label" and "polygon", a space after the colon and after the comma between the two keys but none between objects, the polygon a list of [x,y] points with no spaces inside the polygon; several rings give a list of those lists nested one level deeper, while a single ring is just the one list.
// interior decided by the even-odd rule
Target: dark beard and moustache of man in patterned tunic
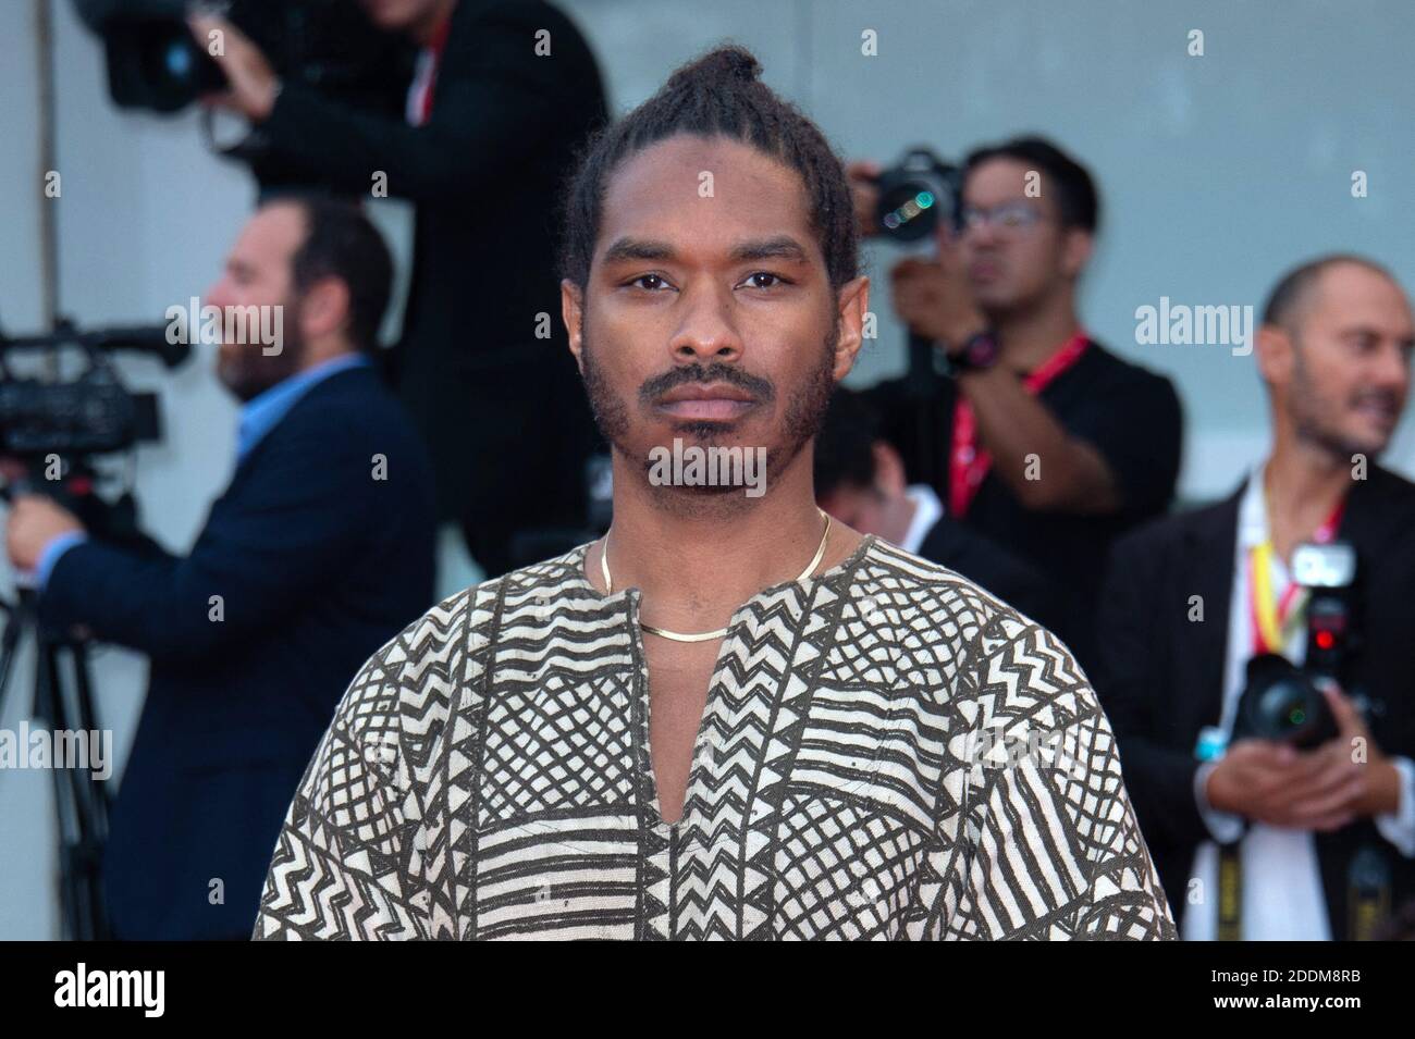
[{"label": "dark beard and moustache of man in patterned tunic", "polygon": [[[594,362],[597,351],[591,345],[589,315],[583,319],[580,335],[583,342],[580,360],[583,363],[584,390],[590,400],[594,424],[599,427],[600,435],[604,437],[606,442],[625,459],[641,458],[641,472],[647,479],[654,464],[649,459],[648,450],[641,450],[641,445],[633,442],[633,409],[614,390]],[[835,349],[839,338],[841,315],[838,311],[832,311],[831,331],[821,344],[816,363],[797,386],[791,387],[775,442],[766,445],[766,479],[768,485],[790,468],[801,454],[801,450],[821,431],[826,407],[831,403],[831,393],[835,390]],[[671,389],[691,383],[713,382],[744,389],[764,406],[773,404],[780,396],[775,383],[770,379],[749,375],[734,365],[712,362],[709,365],[685,365],[645,380],[638,387],[637,401],[641,409],[647,410]],[[682,421],[674,425],[675,437],[692,438],[700,447],[717,447],[732,431],[732,423],[719,421]],[[668,448],[669,445],[654,444],[648,447]],[[722,496],[741,491],[741,488],[724,483],[715,486],[676,486],[674,489],[696,496]]]}]

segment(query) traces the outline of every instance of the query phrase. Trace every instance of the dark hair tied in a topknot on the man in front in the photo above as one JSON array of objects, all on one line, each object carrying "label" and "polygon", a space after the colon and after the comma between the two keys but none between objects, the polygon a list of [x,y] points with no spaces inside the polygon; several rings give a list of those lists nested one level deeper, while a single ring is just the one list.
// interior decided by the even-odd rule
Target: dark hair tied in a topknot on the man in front
[{"label": "dark hair tied in a topknot on the man in front", "polygon": [[795,170],[805,182],[831,286],[839,288],[857,274],[859,242],[845,168],[819,127],[763,83],[760,72],[746,48],[717,47],[590,139],[566,191],[562,277],[582,288],[589,281],[604,191],[616,167],[681,133],[739,140]]}]

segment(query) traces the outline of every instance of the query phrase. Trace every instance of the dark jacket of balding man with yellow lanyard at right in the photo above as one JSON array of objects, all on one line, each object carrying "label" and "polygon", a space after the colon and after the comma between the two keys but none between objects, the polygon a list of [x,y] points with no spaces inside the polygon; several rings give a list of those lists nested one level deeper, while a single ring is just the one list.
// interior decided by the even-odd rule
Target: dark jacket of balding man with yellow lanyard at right
[{"label": "dark jacket of balding man with yellow lanyard at right", "polygon": [[[1238,537],[1240,488],[1224,502],[1157,520],[1119,541],[1101,595],[1095,690],[1119,741],[1125,786],[1176,919],[1194,851],[1208,831],[1194,803],[1194,742],[1218,725]],[[1387,753],[1415,755],[1415,485],[1371,466],[1353,483],[1340,537],[1356,546],[1356,626],[1364,649],[1347,693],[1365,687],[1371,735]],[[1203,622],[1189,621],[1201,595]],[[1317,833],[1333,937],[1347,933],[1347,868],[1375,848],[1392,874],[1392,905],[1415,896],[1415,862],[1370,818]]]}]

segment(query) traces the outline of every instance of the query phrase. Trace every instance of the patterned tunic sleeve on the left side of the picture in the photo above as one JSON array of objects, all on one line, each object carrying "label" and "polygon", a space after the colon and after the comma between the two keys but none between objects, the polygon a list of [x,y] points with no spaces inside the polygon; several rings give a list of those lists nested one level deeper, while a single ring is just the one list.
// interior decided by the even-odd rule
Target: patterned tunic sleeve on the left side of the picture
[{"label": "patterned tunic sleeve on the left side of the picture", "polygon": [[255,940],[426,939],[422,811],[399,746],[399,639],[350,683],[286,813]]}]

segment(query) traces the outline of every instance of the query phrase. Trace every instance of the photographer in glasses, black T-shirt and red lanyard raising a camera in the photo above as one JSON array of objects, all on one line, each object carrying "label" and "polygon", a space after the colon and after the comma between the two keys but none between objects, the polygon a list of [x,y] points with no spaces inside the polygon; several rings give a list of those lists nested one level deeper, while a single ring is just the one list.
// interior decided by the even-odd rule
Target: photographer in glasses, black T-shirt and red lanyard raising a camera
[{"label": "photographer in glasses, black T-shirt and red lanyard raising a camera", "polygon": [[[870,172],[852,167],[866,230]],[[944,513],[1053,582],[1056,615],[1037,619],[1085,666],[1107,551],[1166,510],[1182,437],[1170,382],[1102,348],[1077,315],[1098,212],[1091,175],[1049,141],[974,151],[959,226],[941,228],[935,257],[890,271],[894,310],[949,375],[928,390],[928,421],[906,380],[870,390]]]}]

